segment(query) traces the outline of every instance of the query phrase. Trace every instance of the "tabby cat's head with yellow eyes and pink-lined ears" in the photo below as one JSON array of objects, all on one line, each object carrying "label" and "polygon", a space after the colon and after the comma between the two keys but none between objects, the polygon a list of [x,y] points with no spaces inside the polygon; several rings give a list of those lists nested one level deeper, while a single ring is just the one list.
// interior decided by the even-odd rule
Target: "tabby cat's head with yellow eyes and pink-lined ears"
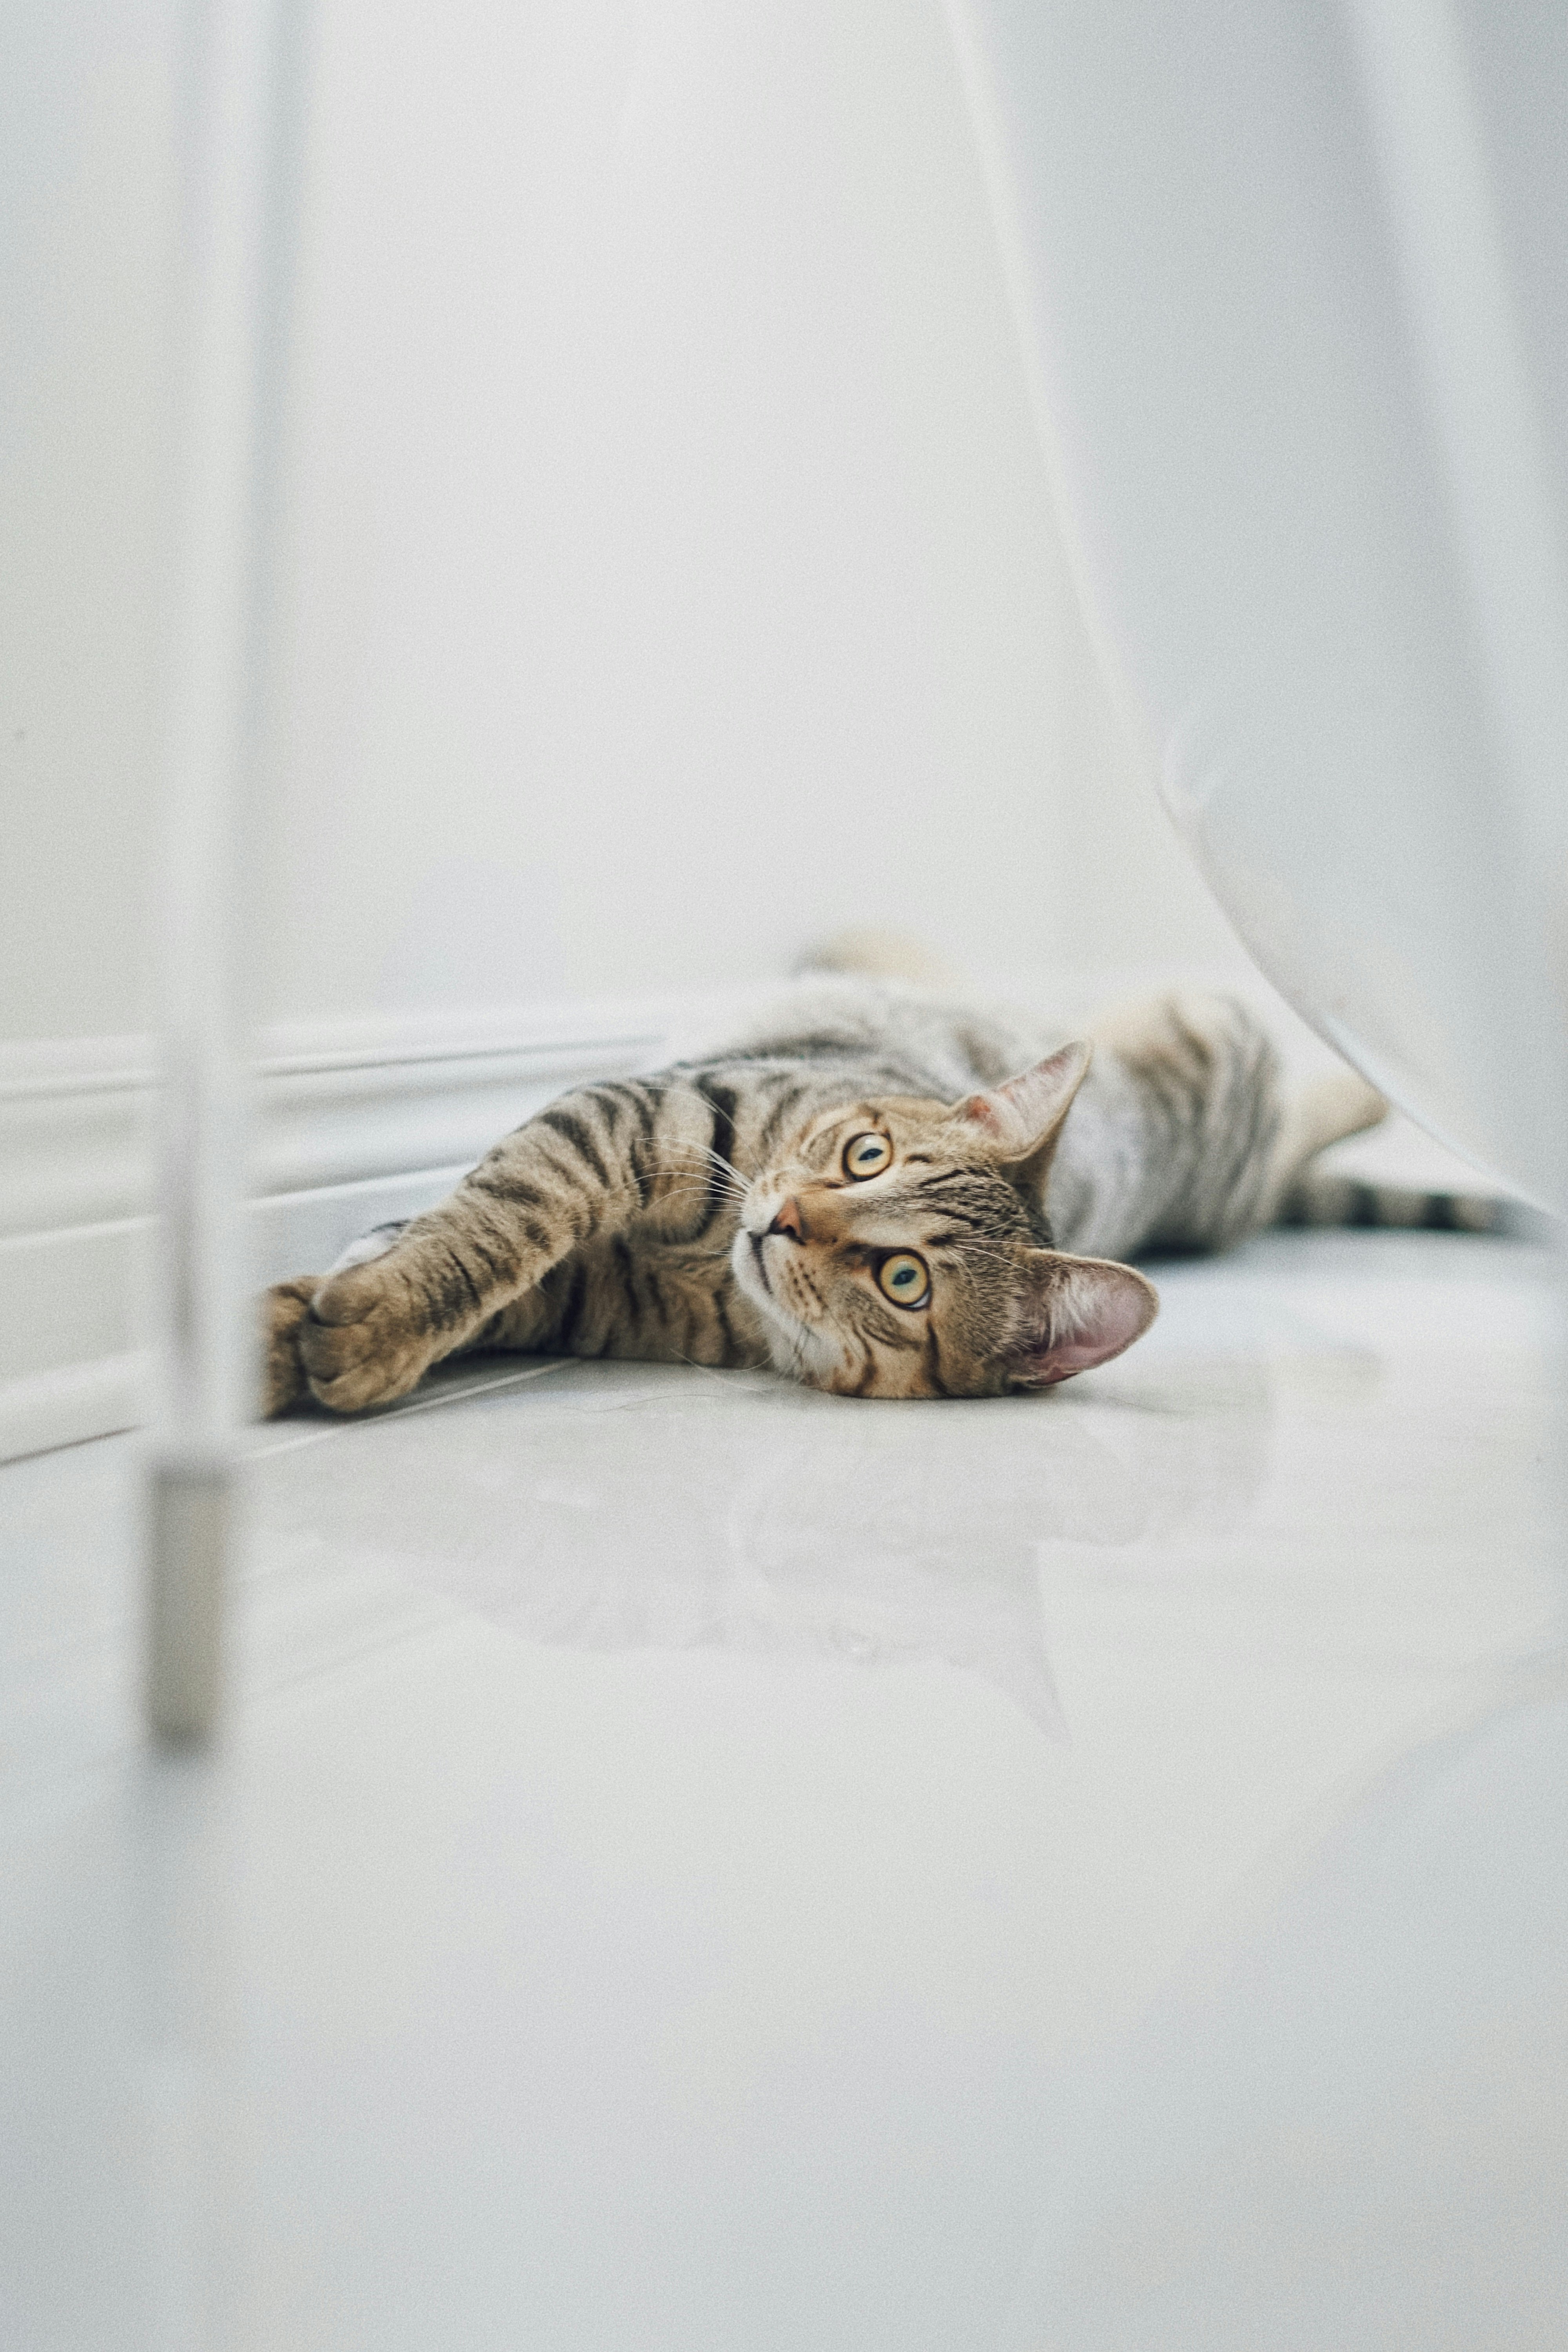
[{"label": "tabby cat's head with yellow eyes and pink-lined ears", "polygon": [[1131,1265],[1051,1247],[1070,1044],[961,1103],[823,1112],[750,1185],[731,1265],[773,1362],[851,1397],[997,1397],[1105,1364],[1154,1322]]}]

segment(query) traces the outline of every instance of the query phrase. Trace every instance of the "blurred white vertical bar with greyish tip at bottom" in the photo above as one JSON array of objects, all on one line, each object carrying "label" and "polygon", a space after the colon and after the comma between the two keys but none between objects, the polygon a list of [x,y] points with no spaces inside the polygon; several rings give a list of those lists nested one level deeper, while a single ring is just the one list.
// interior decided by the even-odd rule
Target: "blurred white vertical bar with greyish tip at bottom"
[{"label": "blurred white vertical bar with greyish tip at bottom", "polygon": [[167,1743],[207,1740],[219,1717],[235,1437],[252,1388],[240,837],[263,659],[280,0],[195,0],[190,33],[162,903],[162,1392],[146,1519],[146,1710]]}]

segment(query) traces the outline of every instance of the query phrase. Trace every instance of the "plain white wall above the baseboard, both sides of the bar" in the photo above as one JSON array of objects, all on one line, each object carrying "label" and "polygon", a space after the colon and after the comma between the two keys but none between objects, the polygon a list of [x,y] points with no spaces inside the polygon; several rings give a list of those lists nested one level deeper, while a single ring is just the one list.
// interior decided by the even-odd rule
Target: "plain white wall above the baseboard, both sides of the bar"
[{"label": "plain white wall above the baseboard, both sides of the bar", "polygon": [[[172,0],[5,5],[0,1037],[148,1018]],[[1053,529],[938,0],[324,0],[259,1016],[1218,964]]]}]

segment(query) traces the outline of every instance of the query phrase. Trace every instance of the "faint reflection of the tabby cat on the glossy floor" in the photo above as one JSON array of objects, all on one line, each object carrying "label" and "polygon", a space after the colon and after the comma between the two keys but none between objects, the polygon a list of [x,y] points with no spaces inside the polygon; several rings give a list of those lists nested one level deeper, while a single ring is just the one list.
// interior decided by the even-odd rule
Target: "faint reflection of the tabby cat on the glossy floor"
[{"label": "faint reflection of the tabby cat on the glossy floor", "polygon": [[[1046,1397],[940,1406],[564,1364],[261,1461],[261,1538],[277,1564],[277,1545],[374,1552],[545,1644],[945,1661],[1056,1733],[1053,1555],[1088,1545],[1112,1569],[1244,1524],[1291,1364],[1164,1350]],[[1335,1364],[1309,1376],[1368,1376]]]}]

